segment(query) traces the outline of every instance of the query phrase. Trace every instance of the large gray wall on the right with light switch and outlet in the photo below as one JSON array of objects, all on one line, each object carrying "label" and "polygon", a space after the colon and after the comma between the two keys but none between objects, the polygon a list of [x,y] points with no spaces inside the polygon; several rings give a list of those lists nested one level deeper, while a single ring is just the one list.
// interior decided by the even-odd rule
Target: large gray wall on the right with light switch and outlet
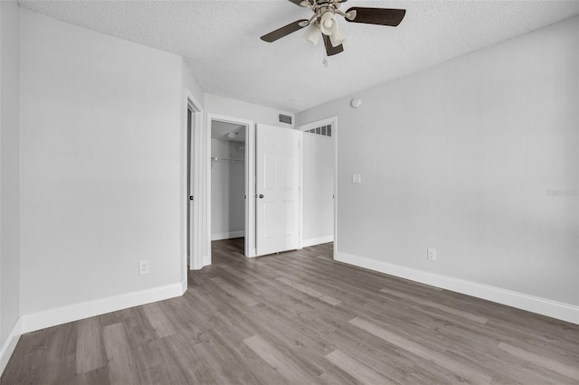
[{"label": "large gray wall on the right with light switch and outlet", "polygon": [[578,305],[578,25],[299,113],[338,117],[338,253]]}]

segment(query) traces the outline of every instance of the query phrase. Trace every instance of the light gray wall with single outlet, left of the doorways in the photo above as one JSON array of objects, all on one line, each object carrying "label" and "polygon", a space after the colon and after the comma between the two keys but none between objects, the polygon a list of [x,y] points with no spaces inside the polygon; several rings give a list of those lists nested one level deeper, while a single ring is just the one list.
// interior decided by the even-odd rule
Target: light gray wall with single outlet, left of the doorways
[{"label": "light gray wall with single outlet, left of the doorways", "polygon": [[21,25],[22,313],[180,284],[181,58]]}]

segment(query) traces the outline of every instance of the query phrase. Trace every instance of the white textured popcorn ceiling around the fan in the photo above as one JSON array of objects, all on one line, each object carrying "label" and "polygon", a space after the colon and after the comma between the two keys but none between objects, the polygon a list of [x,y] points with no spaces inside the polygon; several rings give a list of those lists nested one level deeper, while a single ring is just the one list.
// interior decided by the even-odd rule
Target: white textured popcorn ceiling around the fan
[{"label": "white textured popcorn ceiling around the fan", "polygon": [[396,28],[340,23],[345,52],[322,64],[303,31],[260,36],[311,14],[287,0],[27,1],[59,20],[185,57],[206,92],[298,112],[579,14],[579,1],[363,1],[404,8]]}]

